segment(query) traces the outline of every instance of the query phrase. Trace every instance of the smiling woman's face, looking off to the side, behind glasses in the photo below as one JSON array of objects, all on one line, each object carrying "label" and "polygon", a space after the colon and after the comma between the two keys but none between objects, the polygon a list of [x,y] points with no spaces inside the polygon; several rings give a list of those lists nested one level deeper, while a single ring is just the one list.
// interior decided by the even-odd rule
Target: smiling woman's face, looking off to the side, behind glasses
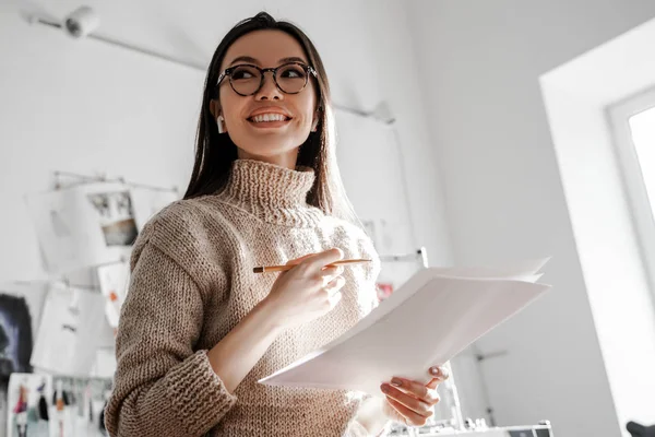
[{"label": "smiling woman's face, looking off to the side, behind glasses", "polygon": [[[257,31],[228,48],[221,71],[243,63],[275,68],[289,60],[309,64],[302,47],[290,35],[282,31]],[[314,86],[310,74],[300,93],[286,94],[275,85],[273,73],[265,72],[262,87],[253,95],[242,96],[226,76],[221,83],[218,102],[212,102],[212,113],[224,117],[227,130],[224,134],[229,134],[239,147],[240,158],[294,164],[298,147],[307,140],[318,116]]]}]

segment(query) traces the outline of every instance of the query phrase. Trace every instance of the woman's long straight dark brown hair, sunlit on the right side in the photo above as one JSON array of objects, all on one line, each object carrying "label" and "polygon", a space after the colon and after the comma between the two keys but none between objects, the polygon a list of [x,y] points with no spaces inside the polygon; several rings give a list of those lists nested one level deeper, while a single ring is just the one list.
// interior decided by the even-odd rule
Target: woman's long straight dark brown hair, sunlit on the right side
[{"label": "woman's long straight dark brown hair, sunlit on the right side", "polygon": [[336,165],[330,85],[321,57],[300,28],[288,22],[276,21],[265,12],[260,12],[234,26],[214,52],[205,80],[198,122],[195,163],[184,199],[215,193],[221,191],[228,181],[231,164],[237,160],[237,146],[229,134],[218,134],[216,119],[210,109],[210,102],[218,98],[216,82],[227,49],[241,36],[262,29],[282,31],[296,38],[303,48],[309,64],[318,73],[314,90],[319,108],[319,123],[317,132],[311,132],[307,141],[301,144],[297,161],[298,166],[311,167],[315,173],[315,181],[308,193],[307,202],[321,209],[325,214],[358,223],[345,194]]}]

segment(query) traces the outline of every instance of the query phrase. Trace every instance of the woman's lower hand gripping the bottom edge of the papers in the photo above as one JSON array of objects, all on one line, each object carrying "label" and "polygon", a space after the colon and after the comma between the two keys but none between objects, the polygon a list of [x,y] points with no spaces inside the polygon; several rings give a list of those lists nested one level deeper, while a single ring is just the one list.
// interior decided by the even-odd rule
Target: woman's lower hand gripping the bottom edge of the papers
[{"label": "woman's lower hand gripping the bottom edge of the papers", "polygon": [[409,426],[424,426],[433,414],[432,406],[439,402],[437,387],[449,377],[445,367],[430,367],[432,380],[427,385],[394,377],[380,389],[386,397],[384,414],[392,421]]}]

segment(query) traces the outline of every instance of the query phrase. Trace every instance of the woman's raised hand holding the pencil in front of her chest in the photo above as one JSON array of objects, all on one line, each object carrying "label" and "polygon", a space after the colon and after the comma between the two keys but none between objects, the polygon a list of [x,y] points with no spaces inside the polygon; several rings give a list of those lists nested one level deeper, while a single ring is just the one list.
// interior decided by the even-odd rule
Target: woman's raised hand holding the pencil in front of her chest
[{"label": "woman's raised hand holding the pencil in front of her chest", "polygon": [[325,267],[343,259],[341,249],[330,249],[290,260],[291,270],[282,272],[264,304],[283,329],[294,328],[330,312],[341,300],[345,284],[343,267]]}]

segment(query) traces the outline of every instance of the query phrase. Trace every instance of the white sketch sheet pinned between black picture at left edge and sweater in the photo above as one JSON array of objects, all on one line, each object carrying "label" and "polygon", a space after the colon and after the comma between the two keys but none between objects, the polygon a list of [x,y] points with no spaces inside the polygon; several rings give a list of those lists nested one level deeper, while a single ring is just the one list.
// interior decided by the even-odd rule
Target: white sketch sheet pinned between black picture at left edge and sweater
[{"label": "white sketch sheet pinned between black picture at left edge and sweater", "polygon": [[64,284],[52,284],[46,297],[31,364],[58,375],[88,376],[96,351],[114,344],[105,319],[105,298]]}]

